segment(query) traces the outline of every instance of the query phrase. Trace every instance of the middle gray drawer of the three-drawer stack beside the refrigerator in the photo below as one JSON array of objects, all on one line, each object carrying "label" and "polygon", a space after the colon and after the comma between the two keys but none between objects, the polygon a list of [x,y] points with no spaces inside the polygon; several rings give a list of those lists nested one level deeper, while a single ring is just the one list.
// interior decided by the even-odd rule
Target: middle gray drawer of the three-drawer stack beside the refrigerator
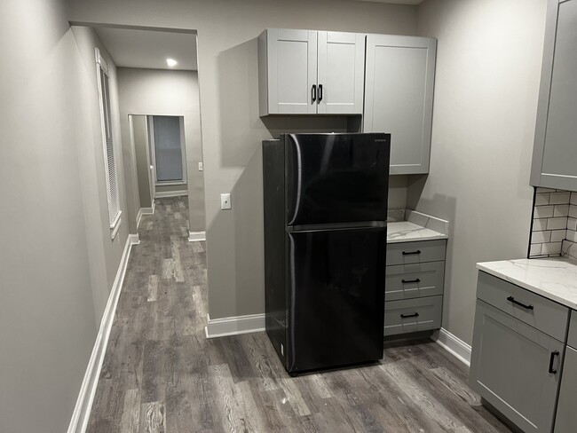
[{"label": "middle gray drawer of the three-drawer stack beside the refrigerator", "polygon": [[387,266],[384,300],[443,295],[445,262]]}]

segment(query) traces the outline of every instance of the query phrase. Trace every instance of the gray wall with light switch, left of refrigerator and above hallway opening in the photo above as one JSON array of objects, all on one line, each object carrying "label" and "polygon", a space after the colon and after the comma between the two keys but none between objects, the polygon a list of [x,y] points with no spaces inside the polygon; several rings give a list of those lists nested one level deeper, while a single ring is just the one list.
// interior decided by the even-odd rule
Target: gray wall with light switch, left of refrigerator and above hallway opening
[{"label": "gray wall with light switch, left of refrigerator and above hallway opening", "polygon": [[[415,7],[318,0],[70,2],[70,19],[198,30],[209,314],[265,310],[260,143],[282,130],[341,130],[346,121],[258,117],[257,35],[265,28],[415,34]],[[319,11],[315,13],[312,11]],[[220,193],[233,209],[220,210]],[[192,228],[192,227],[191,227]]]}]

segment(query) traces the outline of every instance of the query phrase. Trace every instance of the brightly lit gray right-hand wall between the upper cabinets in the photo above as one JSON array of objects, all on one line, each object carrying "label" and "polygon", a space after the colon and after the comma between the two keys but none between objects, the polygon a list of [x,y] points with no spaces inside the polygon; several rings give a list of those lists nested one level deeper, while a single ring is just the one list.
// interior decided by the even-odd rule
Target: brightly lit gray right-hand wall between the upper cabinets
[{"label": "brightly lit gray right-hand wall between the upper cabinets", "polygon": [[451,222],[443,327],[471,342],[482,261],[526,256],[545,1],[427,0],[419,34],[439,39],[431,174],[407,204]]}]

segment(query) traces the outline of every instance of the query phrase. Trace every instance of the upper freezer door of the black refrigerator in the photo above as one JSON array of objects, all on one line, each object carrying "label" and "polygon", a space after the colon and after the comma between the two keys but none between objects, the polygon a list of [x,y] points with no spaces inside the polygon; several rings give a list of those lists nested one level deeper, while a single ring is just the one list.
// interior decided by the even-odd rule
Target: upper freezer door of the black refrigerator
[{"label": "upper freezer door of the black refrigerator", "polygon": [[387,219],[390,134],[287,134],[287,224]]}]

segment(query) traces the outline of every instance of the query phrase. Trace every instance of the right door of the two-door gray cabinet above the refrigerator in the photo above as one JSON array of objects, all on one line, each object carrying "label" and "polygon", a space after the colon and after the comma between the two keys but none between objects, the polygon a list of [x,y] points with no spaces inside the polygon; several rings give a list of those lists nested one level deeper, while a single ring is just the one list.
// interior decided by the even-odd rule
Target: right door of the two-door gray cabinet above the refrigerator
[{"label": "right door of the two-door gray cabinet above the refrigerator", "polygon": [[318,32],[318,113],[362,114],[365,35]]}]

